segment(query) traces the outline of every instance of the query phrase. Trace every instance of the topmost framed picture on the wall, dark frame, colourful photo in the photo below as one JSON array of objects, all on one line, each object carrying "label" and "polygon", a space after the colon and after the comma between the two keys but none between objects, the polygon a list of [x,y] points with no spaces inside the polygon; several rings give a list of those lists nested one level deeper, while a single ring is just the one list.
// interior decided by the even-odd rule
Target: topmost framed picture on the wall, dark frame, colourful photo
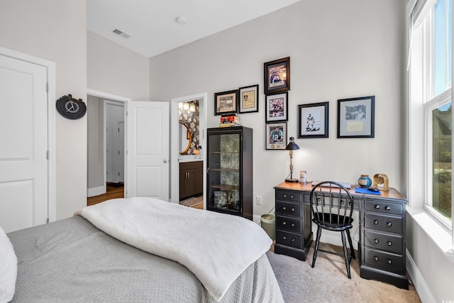
[{"label": "topmost framed picture on the wall, dark frame, colourful photo", "polygon": [[290,57],[263,63],[265,94],[286,92],[290,89]]}]

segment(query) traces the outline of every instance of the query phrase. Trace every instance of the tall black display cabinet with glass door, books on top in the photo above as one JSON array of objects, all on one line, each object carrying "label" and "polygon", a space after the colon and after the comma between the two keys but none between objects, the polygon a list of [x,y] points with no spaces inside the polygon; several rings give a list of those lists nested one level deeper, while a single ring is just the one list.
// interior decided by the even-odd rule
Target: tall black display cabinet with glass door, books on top
[{"label": "tall black display cabinet with glass door, books on top", "polygon": [[206,209],[252,220],[252,128],[208,128],[206,134]]}]

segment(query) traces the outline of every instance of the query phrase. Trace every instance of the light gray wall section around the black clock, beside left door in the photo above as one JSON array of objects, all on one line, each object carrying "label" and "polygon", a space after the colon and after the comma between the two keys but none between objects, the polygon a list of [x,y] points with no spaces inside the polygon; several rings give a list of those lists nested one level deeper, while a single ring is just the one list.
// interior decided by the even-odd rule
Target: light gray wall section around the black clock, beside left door
[{"label": "light gray wall section around the black clock, beside left door", "polygon": [[[87,101],[86,11],[86,1],[1,1],[0,46],[55,62],[55,97]],[[87,116],[55,113],[55,153],[55,215],[62,219],[87,205]]]}]

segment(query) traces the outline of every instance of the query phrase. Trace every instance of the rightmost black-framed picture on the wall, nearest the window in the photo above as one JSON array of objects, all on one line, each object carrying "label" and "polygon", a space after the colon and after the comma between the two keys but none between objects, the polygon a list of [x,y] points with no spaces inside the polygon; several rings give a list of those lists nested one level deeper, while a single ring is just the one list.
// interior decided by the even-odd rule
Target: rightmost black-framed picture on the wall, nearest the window
[{"label": "rightmost black-framed picture on the wall, nearest the window", "polygon": [[374,138],[375,96],[338,100],[338,138]]}]

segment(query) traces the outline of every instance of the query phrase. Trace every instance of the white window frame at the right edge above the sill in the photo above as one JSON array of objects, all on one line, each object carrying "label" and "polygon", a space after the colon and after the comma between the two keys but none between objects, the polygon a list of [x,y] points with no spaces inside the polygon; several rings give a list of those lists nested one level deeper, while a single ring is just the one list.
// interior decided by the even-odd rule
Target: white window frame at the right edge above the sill
[{"label": "white window frame at the right edge above the sill", "polygon": [[[413,3],[411,3],[413,2]],[[450,87],[445,92],[439,94],[437,97],[433,96],[433,89],[435,87],[434,78],[434,62],[433,62],[433,18],[434,18],[434,6],[436,0],[428,0],[426,6],[430,6],[430,9],[425,7],[423,13],[419,16],[419,20],[414,22],[412,16],[415,1],[409,1],[407,6],[407,30],[409,35],[407,36],[407,46],[409,47],[408,57],[408,78],[407,78],[407,184],[408,184],[408,196],[409,206],[423,209],[423,212],[427,214],[434,223],[441,226],[443,230],[450,234],[451,243],[450,246],[454,249],[454,233],[453,233],[453,219],[454,219],[454,199],[451,196],[451,220],[447,219],[443,214],[439,213],[432,207],[432,110],[436,109],[448,101],[453,102],[453,77],[452,70],[454,70],[453,64],[453,52],[450,54],[451,63],[451,81]],[[413,4],[413,5],[411,5]],[[452,4],[451,9],[451,20],[453,15]],[[421,17],[422,16],[422,17]],[[426,17],[426,18],[425,18]],[[422,26],[419,31],[419,26]],[[451,26],[453,23],[451,22]],[[453,26],[454,27],[454,26]],[[415,32],[418,32],[419,37],[415,38]],[[453,48],[453,28],[451,28],[451,49]],[[416,44],[414,43],[416,40]],[[418,55],[414,55],[413,52],[419,52]],[[416,65],[412,65],[411,59],[416,58]],[[449,62],[449,61],[448,61]],[[416,72],[413,71],[416,70]],[[416,79],[415,79],[416,78]],[[412,87],[412,84],[415,87]],[[418,87],[421,85],[421,87]],[[451,111],[451,119],[454,123],[454,111]],[[423,126],[417,126],[418,121],[423,122]],[[421,136],[422,131],[422,136]],[[422,137],[422,138],[421,138]],[[421,148],[418,151],[418,148]],[[451,150],[454,150],[454,143],[451,141]],[[422,160],[422,163],[421,163]],[[453,158],[451,158],[451,167],[453,167]],[[421,176],[423,174],[423,176]],[[419,176],[419,177],[418,177]],[[421,181],[424,186],[421,192]],[[451,192],[453,192],[454,186],[451,182]],[[422,195],[421,195],[422,194]],[[453,253],[448,253],[448,258],[452,259]],[[453,259],[454,262],[454,259]]]}]

